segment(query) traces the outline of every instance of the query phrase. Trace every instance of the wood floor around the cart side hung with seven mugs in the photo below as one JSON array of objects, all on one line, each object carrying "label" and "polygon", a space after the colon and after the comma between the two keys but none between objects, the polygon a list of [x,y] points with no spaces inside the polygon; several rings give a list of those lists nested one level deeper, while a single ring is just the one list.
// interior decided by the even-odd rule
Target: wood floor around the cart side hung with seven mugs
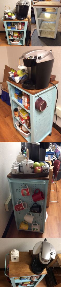
[{"label": "wood floor around the cart side hung with seven mugs", "polygon": [[[15,218],[13,218],[6,238],[61,238],[61,179],[57,181],[57,192],[58,203],[49,202],[49,208],[46,209],[48,218],[45,222],[45,232],[43,234],[17,230]],[[50,200],[56,200],[56,189],[51,191]]]}]

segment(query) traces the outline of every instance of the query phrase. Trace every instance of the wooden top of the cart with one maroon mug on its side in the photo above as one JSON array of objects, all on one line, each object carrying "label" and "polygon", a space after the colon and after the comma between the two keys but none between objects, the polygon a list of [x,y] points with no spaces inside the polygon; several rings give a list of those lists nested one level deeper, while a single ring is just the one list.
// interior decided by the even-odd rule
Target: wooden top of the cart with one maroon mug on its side
[{"label": "wooden top of the cart with one maroon mug on its side", "polygon": [[[45,88],[45,89],[41,89],[41,90],[27,90],[27,89],[24,89],[24,88],[22,88],[22,84],[17,84],[16,82],[14,82],[14,81],[10,81],[9,79],[6,79],[10,84],[13,84],[13,85],[15,85],[16,87],[18,87],[18,88],[20,88],[20,89],[23,89],[24,91],[26,91],[26,92],[29,92],[30,94],[32,94],[32,95],[35,95],[35,94],[37,94],[37,93],[39,93],[39,92],[42,92],[42,91],[44,91],[44,90],[47,90],[48,88],[50,88],[50,87],[52,87],[53,85],[52,84],[49,84],[49,86],[47,87],[47,88]],[[58,81],[53,81],[53,84],[58,84]]]}]

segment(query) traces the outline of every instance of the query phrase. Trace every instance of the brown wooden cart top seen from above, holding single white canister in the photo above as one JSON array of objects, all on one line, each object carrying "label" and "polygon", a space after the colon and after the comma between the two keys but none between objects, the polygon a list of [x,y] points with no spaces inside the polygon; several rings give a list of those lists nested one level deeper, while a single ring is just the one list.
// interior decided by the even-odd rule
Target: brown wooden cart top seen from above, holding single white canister
[{"label": "brown wooden cart top seen from above, holding single white canister", "polygon": [[[47,274],[46,269],[44,269],[40,275],[43,274]],[[31,257],[29,255],[29,252],[19,252],[19,262],[12,262],[10,257],[9,278],[33,275],[35,274],[32,272],[31,269]]]}]

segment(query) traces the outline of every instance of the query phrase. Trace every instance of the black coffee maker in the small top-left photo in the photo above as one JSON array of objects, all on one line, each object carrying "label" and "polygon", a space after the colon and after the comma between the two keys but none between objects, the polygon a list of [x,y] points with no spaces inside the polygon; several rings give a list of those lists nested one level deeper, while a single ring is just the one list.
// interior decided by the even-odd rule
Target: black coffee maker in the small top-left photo
[{"label": "black coffee maker in the small top-left photo", "polygon": [[18,20],[27,18],[30,2],[27,0],[20,0],[16,3],[16,16]]}]

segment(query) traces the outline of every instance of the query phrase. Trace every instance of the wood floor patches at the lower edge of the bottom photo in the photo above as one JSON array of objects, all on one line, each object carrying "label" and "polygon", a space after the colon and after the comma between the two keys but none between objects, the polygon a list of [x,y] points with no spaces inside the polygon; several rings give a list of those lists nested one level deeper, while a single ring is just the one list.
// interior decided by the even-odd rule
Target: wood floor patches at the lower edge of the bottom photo
[{"label": "wood floor patches at the lower edge of the bottom photo", "polygon": [[[55,268],[54,274],[57,284],[59,284],[61,282],[61,276],[59,276],[58,274],[61,273],[61,268]],[[10,287],[11,284],[8,283],[8,281],[6,280],[6,276],[4,274],[4,270],[0,270],[0,287]],[[43,278],[42,281],[38,284],[38,287],[46,287],[46,282],[45,279]]]}]

